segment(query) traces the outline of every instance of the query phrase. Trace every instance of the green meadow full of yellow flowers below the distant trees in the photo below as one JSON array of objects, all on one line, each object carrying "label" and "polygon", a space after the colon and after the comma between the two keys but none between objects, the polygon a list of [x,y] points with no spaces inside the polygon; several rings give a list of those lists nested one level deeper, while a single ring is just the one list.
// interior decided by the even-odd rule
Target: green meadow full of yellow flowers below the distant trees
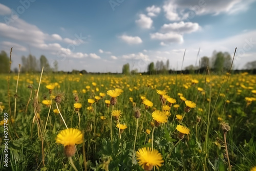
[{"label": "green meadow full of yellow flowers below the distant trees", "polygon": [[256,170],[255,75],[8,77],[0,170]]}]

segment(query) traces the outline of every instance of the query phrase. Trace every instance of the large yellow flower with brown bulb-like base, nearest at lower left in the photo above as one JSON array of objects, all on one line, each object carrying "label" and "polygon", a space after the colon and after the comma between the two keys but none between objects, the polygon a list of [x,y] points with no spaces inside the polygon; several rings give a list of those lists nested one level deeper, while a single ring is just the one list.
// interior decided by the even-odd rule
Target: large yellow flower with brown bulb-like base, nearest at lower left
[{"label": "large yellow flower with brown bulb-like base, nearest at lower left", "polygon": [[82,132],[73,128],[62,130],[56,138],[56,143],[64,145],[64,154],[67,157],[71,157],[75,154],[75,144],[81,144],[82,141]]}]

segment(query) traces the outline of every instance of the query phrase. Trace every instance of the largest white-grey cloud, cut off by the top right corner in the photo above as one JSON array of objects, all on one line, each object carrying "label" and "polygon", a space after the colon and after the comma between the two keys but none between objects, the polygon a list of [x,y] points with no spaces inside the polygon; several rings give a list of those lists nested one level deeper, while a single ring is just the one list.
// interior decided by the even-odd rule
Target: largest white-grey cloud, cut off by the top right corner
[{"label": "largest white-grey cloud, cut off by the top right corner", "polygon": [[253,2],[255,0],[166,0],[163,10],[167,19],[177,21],[194,18],[195,15],[238,13],[246,11]]}]

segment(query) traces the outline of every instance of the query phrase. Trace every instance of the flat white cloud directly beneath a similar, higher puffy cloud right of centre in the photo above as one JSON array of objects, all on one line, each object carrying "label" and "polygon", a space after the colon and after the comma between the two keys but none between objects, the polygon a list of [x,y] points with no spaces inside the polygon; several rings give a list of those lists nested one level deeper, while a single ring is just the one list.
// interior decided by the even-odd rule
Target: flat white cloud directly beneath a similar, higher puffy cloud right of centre
[{"label": "flat white cloud directly beneath a similar, higher puffy cloud right of centre", "polygon": [[150,34],[152,39],[161,40],[164,42],[176,42],[176,43],[182,43],[183,42],[183,36],[181,34],[177,33],[153,33]]}]

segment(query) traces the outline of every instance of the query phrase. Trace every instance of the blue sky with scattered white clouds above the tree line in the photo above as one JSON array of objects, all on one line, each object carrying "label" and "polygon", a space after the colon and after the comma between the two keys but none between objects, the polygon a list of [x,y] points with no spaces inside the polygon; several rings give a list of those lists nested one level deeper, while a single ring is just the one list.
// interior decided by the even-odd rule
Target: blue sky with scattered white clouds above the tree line
[{"label": "blue sky with scattered white clouds above the tree line", "polygon": [[[146,71],[169,59],[170,69],[195,65],[213,51],[231,55],[234,68],[256,59],[256,0],[1,1],[0,50],[13,47],[13,68],[29,53],[59,70]],[[199,62],[198,62],[199,65]]]}]

